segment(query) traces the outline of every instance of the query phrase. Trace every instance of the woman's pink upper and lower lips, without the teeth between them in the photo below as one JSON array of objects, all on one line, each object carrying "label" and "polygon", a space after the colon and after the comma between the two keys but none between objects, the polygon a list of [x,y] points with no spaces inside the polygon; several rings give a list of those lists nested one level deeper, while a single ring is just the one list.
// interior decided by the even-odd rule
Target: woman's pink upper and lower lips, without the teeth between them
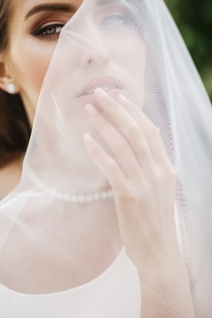
[{"label": "woman's pink upper and lower lips, without the teeth between them", "polygon": [[97,106],[97,100],[95,98],[95,94],[94,93],[90,93],[88,95],[83,96],[82,94],[95,86],[102,86],[105,84],[115,84],[117,85],[119,88],[114,88],[114,89],[108,89],[106,92],[112,96],[113,98],[115,98],[115,96],[120,93],[123,89],[124,89],[124,85],[123,82],[110,74],[106,74],[104,76],[97,76],[95,78],[93,78],[92,80],[88,81],[85,85],[82,86],[82,88],[77,92],[77,99],[80,103],[86,105],[88,103],[93,104],[94,106]]}]

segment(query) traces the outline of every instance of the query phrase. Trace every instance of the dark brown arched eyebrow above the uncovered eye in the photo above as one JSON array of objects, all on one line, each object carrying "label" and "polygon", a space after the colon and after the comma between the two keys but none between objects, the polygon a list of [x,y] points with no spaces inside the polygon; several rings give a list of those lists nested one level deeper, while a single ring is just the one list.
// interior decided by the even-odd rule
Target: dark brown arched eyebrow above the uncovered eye
[{"label": "dark brown arched eyebrow above the uncovered eye", "polygon": [[27,20],[29,17],[32,15],[38,13],[38,12],[43,12],[43,11],[55,11],[55,12],[76,12],[78,7],[76,7],[73,4],[42,4],[34,7],[31,9],[25,16],[24,20]]}]

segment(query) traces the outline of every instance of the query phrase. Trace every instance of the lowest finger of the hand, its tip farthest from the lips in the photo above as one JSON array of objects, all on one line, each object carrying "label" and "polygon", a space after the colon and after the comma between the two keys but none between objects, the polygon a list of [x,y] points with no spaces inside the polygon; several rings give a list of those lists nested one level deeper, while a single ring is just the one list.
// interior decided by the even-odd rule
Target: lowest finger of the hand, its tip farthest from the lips
[{"label": "lowest finger of the hand, its tip farthest from the lips", "polygon": [[83,140],[97,166],[105,173],[112,189],[120,189],[125,182],[125,177],[117,163],[88,133],[83,134]]}]

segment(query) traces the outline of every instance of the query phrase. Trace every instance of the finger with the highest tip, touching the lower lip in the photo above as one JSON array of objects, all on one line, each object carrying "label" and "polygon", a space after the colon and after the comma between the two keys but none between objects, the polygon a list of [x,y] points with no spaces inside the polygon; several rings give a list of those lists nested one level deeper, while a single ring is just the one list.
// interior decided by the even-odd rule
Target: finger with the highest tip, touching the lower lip
[{"label": "finger with the highest tip, touching the lower lip", "polygon": [[100,106],[110,116],[130,144],[138,163],[145,167],[153,164],[152,153],[138,123],[128,114],[120,103],[109,96],[104,90],[97,88],[94,93]]}]

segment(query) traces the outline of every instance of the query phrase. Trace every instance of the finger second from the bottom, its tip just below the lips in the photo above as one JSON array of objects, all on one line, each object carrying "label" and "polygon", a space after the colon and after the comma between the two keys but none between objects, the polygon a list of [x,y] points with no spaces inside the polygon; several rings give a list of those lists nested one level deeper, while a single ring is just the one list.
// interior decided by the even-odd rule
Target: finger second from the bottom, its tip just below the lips
[{"label": "finger second from the bottom, its tip just below the lips", "polygon": [[138,175],[140,167],[127,140],[97,111],[92,104],[87,104],[85,106],[85,114],[96,130],[104,138],[106,143],[110,146],[125,175],[128,177]]}]

